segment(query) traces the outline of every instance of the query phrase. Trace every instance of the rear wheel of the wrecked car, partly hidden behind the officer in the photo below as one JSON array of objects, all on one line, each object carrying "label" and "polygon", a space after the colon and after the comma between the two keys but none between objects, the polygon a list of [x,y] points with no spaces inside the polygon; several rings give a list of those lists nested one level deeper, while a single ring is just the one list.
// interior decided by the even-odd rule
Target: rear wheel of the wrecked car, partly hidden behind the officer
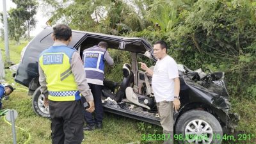
[{"label": "rear wheel of the wrecked car, partly hidden behind the officer", "polygon": [[42,103],[42,102],[44,102],[44,95],[41,94],[40,87],[39,87],[39,88],[36,88],[36,90],[32,96],[33,110],[35,111],[36,115],[38,115],[38,116],[50,118],[49,108],[45,109],[45,106],[42,105],[44,103]]}]

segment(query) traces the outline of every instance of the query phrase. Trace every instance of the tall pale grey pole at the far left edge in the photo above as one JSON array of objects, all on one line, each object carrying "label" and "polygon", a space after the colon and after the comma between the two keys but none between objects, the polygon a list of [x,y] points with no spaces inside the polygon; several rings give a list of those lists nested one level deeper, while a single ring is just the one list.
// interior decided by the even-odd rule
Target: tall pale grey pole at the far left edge
[{"label": "tall pale grey pole at the far left edge", "polygon": [[11,63],[9,54],[9,41],[8,41],[8,22],[6,14],[6,0],[3,0],[3,15],[4,15],[4,45],[6,54],[6,63]]}]

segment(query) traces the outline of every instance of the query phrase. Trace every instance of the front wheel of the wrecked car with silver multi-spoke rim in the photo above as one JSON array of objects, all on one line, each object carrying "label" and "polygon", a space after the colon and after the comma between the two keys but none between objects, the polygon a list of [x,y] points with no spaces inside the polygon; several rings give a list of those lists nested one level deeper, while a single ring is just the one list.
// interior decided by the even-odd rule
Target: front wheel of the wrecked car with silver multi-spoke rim
[{"label": "front wheel of the wrecked car with silver multi-spoke rim", "polygon": [[[221,143],[223,131],[220,122],[211,113],[191,110],[181,115],[177,120],[175,134],[180,138],[176,138],[179,143],[196,143],[197,140],[198,143],[208,144]],[[202,137],[198,136],[200,134]]]}]

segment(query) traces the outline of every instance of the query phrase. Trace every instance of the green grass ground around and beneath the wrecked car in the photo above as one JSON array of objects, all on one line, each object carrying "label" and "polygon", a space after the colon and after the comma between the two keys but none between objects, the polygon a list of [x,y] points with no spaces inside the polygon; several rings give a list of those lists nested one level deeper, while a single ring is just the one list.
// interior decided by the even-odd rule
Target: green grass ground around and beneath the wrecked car
[{"label": "green grass ground around and beneath the wrecked car", "polygon": [[[10,59],[14,63],[20,61],[20,51],[27,44],[27,41],[21,41],[20,45],[10,42]],[[3,42],[0,41],[0,48],[4,49]],[[4,51],[2,51],[3,60],[5,60]],[[17,143],[23,144],[28,141],[29,144],[51,143],[50,120],[36,116],[31,106],[31,97],[28,96],[27,88],[15,83],[10,70],[5,70],[6,83],[15,84],[15,92],[12,93],[10,99],[2,100],[3,107],[15,109],[19,116],[15,121],[15,125],[22,127],[26,131],[16,129]],[[237,131],[244,131],[246,134],[256,134],[256,102],[248,99],[235,99],[232,97],[232,111],[241,115],[241,120],[237,127]],[[124,118],[122,116],[104,114],[104,129],[93,132],[84,132],[85,140],[83,144],[98,143],[161,143],[161,141],[141,141],[142,134],[161,134],[161,127]],[[0,118],[0,144],[12,143],[12,129],[10,125],[4,122],[3,117]],[[28,144],[27,143],[27,144]]]}]

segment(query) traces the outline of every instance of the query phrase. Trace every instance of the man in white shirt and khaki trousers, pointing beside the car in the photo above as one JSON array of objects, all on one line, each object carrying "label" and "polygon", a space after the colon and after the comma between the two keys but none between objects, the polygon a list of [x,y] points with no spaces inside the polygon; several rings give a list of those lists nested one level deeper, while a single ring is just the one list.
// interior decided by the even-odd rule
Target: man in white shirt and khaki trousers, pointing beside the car
[{"label": "man in white shirt and khaki trousers, pointing beside the car", "polygon": [[145,63],[141,69],[152,76],[152,88],[160,115],[160,123],[165,134],[165,143],[173,143],[173,108],[180,108],[180,80],[177,63],[167,54],[166,42],[159,40],[154,44],[154,56],[157,58],[154,71]]}]

